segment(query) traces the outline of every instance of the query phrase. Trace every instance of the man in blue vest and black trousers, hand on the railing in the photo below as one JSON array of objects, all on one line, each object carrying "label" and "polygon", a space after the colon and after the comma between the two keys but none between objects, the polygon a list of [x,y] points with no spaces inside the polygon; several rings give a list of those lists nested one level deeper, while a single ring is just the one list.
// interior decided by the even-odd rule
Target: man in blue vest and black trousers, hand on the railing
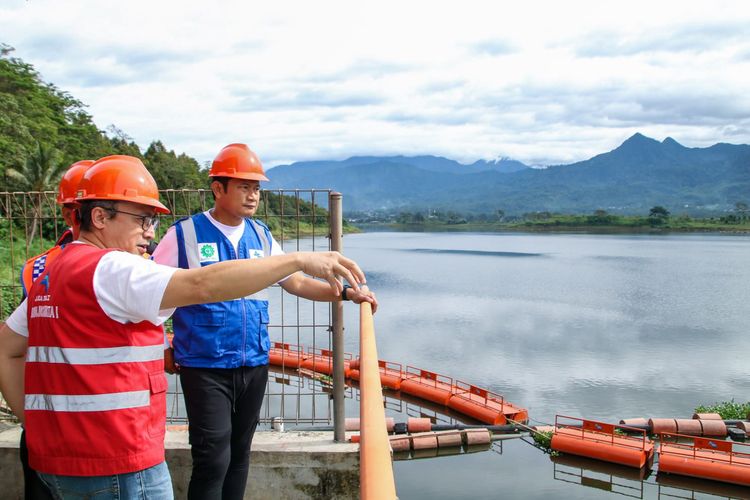
[{"label": "man in blue vest and black trousers, hand on the railing", "polygon": [[[178,221],[159,243],[157,263],[192,269],[231,259],[257,259],[283,251],[268,227],[251,219],[267,181],[258,157],[245,144],[230,144],[209,172],[214,207]],[[377,301],[346,288],[295,273],[284,290],[315,301]],[[193,472],[189,499],[241,499],[250,443],[268,379],[268,299],[265,291],[239,300],[180,307],[173,317],[174,358],[188,414]]]}]

